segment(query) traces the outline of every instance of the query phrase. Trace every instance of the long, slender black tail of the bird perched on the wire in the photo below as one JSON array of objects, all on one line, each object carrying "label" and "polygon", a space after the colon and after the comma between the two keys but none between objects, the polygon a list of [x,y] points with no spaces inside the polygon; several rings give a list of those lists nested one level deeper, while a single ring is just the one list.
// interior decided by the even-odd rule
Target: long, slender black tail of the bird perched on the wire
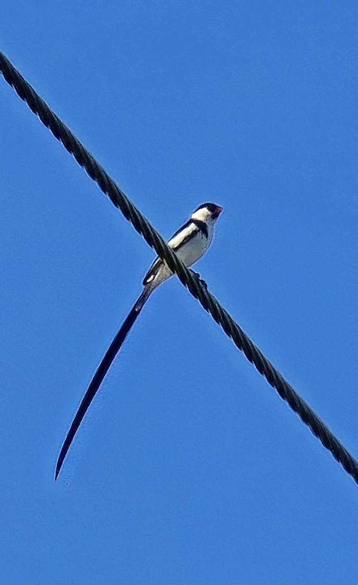
[{"label": "long, slender black tail of the bird perched on the wire", "polygon": [[62,464],[64,462],[64,459],[67,455],[67,451],[68,451],[68,449],[70,449],[73,438],[77,432],[78,427],[80,426],[80,424],[84,418],[84,415],[87,412],[89,405],[91,404],[92,400],[94,399],[95,394],[97,393],[99,386],[101,386],[103,378],[105,377],[106,373],[108,372],[109,367],[111,366],[111,363],[113,362],[117,353],[121,349],[123,342],[126,339],[126,336],[130,332],[130,329],[132,329],[133,325],[135,324],[137,316],[139,315],[140,311],[142,311],[142,308],[144,307],[144,303],[146,302],[147,298],[149,297],[149,294],[150,294],[150,292],[148,292],[148,291],[146,291],[146,289],[144,289],[144,291],[142,292],[142,294],[140,295],[140,297],[136,301],[136,304],[132,308],[132,311],[130,311],[128,317],[126,318],[125,322],[123,323],[121,329],[119,329],[119,331],[118,331],[117,335],[115,336],[115,338],[113,339],[111,345],[108,347],[108,350],[106,351],[105,356],[102,359],[102,362],[99,364],[99,366],[95,372],[95,375],[92,378],[91,384],[89,384],[89,386],[87,388],[87,392],[85,393],[84,397],[82,398],[82,402],[80,404],[80,407],[78,408],[78,411],[76,412],[75,418],[72,421],[72,424],[70,426],[70,430],[68,431],[66,439],[64,440],[60,455],[58,455],[55,479],[57,479],[58,473],[60,473],[60,469],[61,469]]}]

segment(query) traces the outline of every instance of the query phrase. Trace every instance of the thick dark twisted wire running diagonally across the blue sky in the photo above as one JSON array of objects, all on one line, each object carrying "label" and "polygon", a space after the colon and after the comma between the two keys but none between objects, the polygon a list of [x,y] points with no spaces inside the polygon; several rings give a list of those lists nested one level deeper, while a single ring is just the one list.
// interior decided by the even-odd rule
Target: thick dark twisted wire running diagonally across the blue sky
[{"label": "thick dark twisted wire running diagonally across the blue sky", "polygon": [[332,453],[333,457],[342,465],[343,469],[358,484],[358,462],[356,459],[350,455],[325,423],[309,407],[307,402],[295,392],[294,388],[274,368],[273,364],[266,359],[259,348],[247,337],[240,326],[233,321],[232,317],[219,304],[216,298],[192,276],[175,253],[168,248],[167,243],[149,221],[147,221],[135,205],[126,197],[123,191],[109,177],[104,168],[97,163],[81,142],[71,133],[70,129],[64,125],[43,99],[36,94],[31,85],[13,67],[12,63],[6,59],[1,51],[0,72],[19,97],[26,102],[33,113],[39,116],[42,123],[51,130],[54,137],[60,140],[70,154],[73,154],[78,164],[98,184],[101,191],[111,199],[113,205],[121,210],[125,218],[132,223],[133,227],[143,236],[149,246],[156,251],[158,256],[166,261],[170,270],[173,270],[177,274],[181,283],[199,300],[205,311],[211,314],[212,318],[222,327],[226,335],[233,340],[236,347],[245,354],[249,362],[253,363],[260,374],[266,378],[268,384],[277,390],[281,398],[290,405],[294,412],[297,412],[302,422],[311,429],[312,433],[321,441],[322,445]]}]

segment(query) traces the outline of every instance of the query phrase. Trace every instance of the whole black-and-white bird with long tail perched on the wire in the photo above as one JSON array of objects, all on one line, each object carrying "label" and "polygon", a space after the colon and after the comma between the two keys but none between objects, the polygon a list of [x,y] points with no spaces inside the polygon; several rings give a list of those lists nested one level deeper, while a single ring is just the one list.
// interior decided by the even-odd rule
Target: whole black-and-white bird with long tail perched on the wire
[{"label": "whole black-and-white bird with long tail perched on the wire", "polygon": [[[219,205],[215,205],[214,203],[204,203],[203,205],[200,205],[200,207],[195,209],[194,213],[191,214],[187,223],[175,232],[174,236],[169,240],[168,246],[174,250],[185,266],[191,266],[206,252],[212,242],[216,219],[218,219],[221,212],[222,207],[219,207]],[[101,386],[102,380],[104,379],[109,366],[111,366],[116,354],[121,349],[126,336],[135,324],[140,311],[142,311],[144,304],[149,299],[152,292],[172,274],[173,272],[168,268],[166,262],[158,257],[154,260],[152,266],[144,277],[143,291],[121,326],[121,329],[119,329],[119,332],[113,339],[102,359],[102,362],[99,364],[98,369],[92,378],[91,384],[89,384],[87,392],[82,399],[75,418],[73,419],[60,455],[58,456],[55,479],[57,479],[58,473],[60,473],[64,458],[67,455],[67,451],[70,448],[75,433],[77,432],[89,405],[97,393],[99,386]]]}]

